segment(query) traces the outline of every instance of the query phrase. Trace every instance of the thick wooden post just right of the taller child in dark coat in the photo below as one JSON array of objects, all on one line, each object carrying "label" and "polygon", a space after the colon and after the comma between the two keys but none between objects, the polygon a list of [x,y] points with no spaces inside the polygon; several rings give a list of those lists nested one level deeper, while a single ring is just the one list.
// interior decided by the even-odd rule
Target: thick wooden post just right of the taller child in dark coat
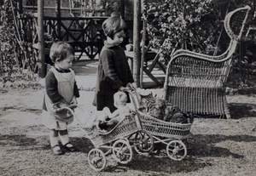
[{"label": "thick wooden post just right of the taller child in dark coat", "polygon": [[137,88],[140,87],[140,23],[141,23],[141,0],[134,0],[133,15],[133,78]]}]

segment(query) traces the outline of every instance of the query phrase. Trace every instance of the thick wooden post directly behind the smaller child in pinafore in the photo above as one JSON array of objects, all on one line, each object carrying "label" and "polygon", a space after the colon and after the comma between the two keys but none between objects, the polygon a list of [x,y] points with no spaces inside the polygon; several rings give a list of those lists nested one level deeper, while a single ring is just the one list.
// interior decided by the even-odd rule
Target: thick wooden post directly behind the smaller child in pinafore
[{"label": "thick wooden post directly behind the smaller child in pinafore", "polygon": [[40,63],[39,77],[45,77],[45,58],[44,58],[44,0],[38,0],[38,59]]}]

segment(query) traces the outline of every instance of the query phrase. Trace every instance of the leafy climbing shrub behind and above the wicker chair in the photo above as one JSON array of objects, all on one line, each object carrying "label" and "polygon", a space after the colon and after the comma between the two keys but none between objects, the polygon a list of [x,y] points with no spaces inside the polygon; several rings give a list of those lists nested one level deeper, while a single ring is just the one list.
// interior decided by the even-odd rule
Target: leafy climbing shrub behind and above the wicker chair
[{"label": "leafy climbing shrub behind and above the wicker chair", "polygon": [[[212,43],[217,41],[221,17],[214,10],[211,0],[143,3],[143,14],[154,47],[162,48],[166,56],[177,48],[206,53],[214,49]],[[213,24],[213,21],[216,22]]]}]

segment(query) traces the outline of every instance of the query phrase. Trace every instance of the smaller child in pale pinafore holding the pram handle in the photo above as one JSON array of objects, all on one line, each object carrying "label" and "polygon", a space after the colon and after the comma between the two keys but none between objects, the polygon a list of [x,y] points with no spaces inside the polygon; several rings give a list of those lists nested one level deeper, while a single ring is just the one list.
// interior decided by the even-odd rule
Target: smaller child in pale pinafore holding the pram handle
[{"label": "smaller child in pale pinafore holding the pram handle", "polygon": [[73,116],[68,111],[55,113],[55,109],[77,104],[79,89],[75,82],[75,74],[71,69],[74,51],[68,43],[53,43],[50,48],[50,59],[55,63],[45,77],[46,94],[44,96],[43,116],[44,126],[49,128],[51,150],[56,154],[62,153],[62,145],[69,151],[74,151],[67,133],[67,124],[73,122]]}]

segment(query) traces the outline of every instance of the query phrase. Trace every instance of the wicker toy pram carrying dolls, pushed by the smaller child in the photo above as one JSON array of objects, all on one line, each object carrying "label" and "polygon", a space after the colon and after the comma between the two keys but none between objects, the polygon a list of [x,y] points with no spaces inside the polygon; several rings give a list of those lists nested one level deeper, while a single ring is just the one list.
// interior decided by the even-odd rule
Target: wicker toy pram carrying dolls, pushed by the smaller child
[{"label": "wicker toy pram carrying dolls, pushed by the smaller child", "polygon": [[[79,117],[69,107],[67,109],[79,121],[85,131],[86,138],[90,139],[95,148],[88,153],[88,162],[91,168],[102,171],[107,164],[106,156],[113,154],[113,159],[121,164],[131,162],[133,151],[148,152],[153,149],[152,136],[142,130],[137,116],[128,116],[119,122],[107,133],[95,133],[93,128],[84,128]],[[103,152],[103,150],[106,150]]]}]

